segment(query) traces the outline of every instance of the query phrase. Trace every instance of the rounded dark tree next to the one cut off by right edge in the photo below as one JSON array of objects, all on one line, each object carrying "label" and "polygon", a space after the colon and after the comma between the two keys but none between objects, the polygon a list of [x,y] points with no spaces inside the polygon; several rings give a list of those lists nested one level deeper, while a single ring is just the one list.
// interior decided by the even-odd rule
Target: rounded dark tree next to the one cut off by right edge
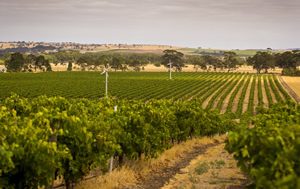
[{"label": "rounded dark tree next to the one cut off by right edge", "polygon": [[249,57],[247,62],[257,70],[257,73],[260,73],[261,70],[268,73],[268,69],[275,68],[274,56],[269,52],[257,52],[253,57]]}]

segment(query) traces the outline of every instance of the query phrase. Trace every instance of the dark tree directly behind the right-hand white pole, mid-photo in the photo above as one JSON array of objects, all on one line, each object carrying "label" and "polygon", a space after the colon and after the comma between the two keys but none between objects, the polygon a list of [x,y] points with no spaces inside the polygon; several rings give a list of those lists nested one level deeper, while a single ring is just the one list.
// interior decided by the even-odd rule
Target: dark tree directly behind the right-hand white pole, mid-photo
[{"label": "dark tree directly behind the right-hand white pole, mid-photo", "polygon": [[176,71],[181,71],[184,66],[184,54],[176,50],[164,50],[162,56],[162,64],[165,67],[169,67],[168,64],[171,62],[172,66],[176,68]]}]

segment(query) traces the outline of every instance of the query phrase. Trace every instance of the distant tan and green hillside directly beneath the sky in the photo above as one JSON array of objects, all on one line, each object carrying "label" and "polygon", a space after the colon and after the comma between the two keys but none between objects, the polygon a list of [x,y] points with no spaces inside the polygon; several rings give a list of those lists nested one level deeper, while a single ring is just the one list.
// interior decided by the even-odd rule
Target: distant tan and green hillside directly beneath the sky
[{"label": "distant tan and green hillside directly beneath the sky", "polygon": [[[170,45],[148,45],[148,44],[80,44],[73,42],[0,42],[0,55],[5,53],[39,53],[39,52],[56,52],[61,50],[76,50],[85,52],[118,52],[118,53],[155,53],[161,54],[166,49],[181,51],[187,55],[212,55],[222,56],[226,51],[233,51],[238,56],[253,56],[258,51],[280,53],[285,50],[272,49],[211,49],[211,48],[183,48]],[[299,50],[292,48],[287,50]]]}]

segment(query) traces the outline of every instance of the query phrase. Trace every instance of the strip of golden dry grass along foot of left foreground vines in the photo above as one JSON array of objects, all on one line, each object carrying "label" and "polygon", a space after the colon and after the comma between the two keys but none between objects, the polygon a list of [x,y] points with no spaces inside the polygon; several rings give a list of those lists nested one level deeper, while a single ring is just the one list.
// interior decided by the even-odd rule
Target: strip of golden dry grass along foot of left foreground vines
[{"label": "strip of golden dry grass along foot of left foreground vines", "polygon": [[223,141],[224,136],[214,138],[195,138],[184,143],[177,144],[163,152],[158,158],[128,161],[121,168],[113,170],[111,173],[98,176],[96,178],[82,181],[77,189],[115,189],[115,188],[132,188],[137,184],[139,176],[146,177],[152,170],[161,169],[162,167],[172,166],[180,161],[182,156],[192,151],[195,147],[205,144]]}]

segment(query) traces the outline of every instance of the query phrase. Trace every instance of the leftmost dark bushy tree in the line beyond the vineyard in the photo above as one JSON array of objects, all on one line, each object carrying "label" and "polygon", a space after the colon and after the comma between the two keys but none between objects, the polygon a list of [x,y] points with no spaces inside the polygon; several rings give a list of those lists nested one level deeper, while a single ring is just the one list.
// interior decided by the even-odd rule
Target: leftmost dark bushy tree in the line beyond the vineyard
[{"label": "leftmost dark bushy tree in the line beyond the vineyard", "polygon": [[10,58],[5,61],[5,67],[9,72],[20,72],[23,69],[25,59],[21,53],[13,53]]}]

